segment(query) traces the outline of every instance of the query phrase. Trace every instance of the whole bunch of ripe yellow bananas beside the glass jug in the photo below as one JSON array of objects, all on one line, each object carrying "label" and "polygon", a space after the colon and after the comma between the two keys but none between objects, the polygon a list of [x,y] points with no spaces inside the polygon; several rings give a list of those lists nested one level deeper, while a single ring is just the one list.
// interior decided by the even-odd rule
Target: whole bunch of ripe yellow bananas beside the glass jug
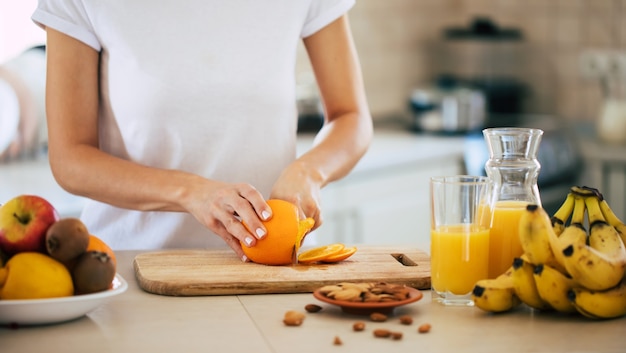
[{"label": "whole bunch of ripe yellow bananas beside the glass jug", "polygon": [[626,225],[597,189],[573,186],[552,217],[529,205],[519,233],[524,254],[498,278],[476,283],[477,307],[505,312],[524,303],[593,319],[626,315]]}]

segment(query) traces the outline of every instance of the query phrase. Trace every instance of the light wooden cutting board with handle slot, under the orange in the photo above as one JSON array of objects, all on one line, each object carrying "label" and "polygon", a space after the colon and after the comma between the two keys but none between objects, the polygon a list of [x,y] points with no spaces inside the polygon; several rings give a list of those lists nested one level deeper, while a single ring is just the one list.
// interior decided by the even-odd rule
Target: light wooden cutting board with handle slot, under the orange
[{"label": "light wooden cutting board with handle slot, under the orange", "polygon": [[405,247],[359,246],[333,264],[266,266],[241,262],[230,249],[162,250],[133,261],[139,286],[170,296],[310,293],[338,282],[387,282],[430,288],[430,257]]}]

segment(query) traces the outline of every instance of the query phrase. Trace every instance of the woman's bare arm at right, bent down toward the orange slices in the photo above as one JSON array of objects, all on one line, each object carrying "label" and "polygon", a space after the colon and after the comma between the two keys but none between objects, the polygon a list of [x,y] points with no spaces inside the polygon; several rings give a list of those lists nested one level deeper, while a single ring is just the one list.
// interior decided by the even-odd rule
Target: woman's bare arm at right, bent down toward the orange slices
[{"label": "woman's bare arm at right, bent down toward the orange slices", "polygon": [[363,78],[347,16],[304,39],[325,110],[313,148],[281,175],[272,196],[296,202],[321,224],[319,190],[347,175],[373,135]]}]

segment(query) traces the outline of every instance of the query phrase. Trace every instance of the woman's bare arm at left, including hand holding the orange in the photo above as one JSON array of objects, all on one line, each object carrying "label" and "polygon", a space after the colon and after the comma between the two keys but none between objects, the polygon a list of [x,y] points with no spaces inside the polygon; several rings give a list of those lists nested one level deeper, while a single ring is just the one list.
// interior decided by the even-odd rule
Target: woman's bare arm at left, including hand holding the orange
[{"label": "woman's bare arm at left, including hand holding the orange", "polygon": [[[220,235],[240,256],[239,240],[271,212],[247,184],[226,184],[116,158],[98,148],[99,53],[47,29],[46,111],[49,159],[57,182],[73,194],[142,211],[186,211]],[[260,233],[262,234],[262,232]]]}]

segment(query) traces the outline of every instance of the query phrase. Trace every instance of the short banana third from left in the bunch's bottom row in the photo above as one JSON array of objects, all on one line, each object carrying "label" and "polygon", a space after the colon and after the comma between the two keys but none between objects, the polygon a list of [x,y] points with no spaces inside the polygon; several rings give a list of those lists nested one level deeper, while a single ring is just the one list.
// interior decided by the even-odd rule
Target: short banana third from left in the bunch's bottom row
[{"label": "short banana third from left in the bunch's bottom row", "polygon": [[567,292],[575,285],[574,280],[547,265],[535,266],[533,276],[541,299],[562,313],[576,312],[567,297]]}]

